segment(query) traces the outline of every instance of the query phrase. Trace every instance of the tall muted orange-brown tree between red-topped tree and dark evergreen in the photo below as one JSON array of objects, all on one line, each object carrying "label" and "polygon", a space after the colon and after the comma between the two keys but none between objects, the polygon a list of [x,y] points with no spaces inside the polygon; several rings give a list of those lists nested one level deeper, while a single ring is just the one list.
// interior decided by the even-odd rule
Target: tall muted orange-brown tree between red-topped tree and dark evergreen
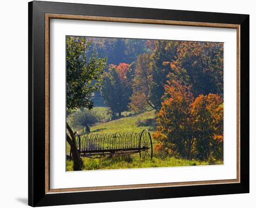
[{"label": "tall muted orange-brown tree between red-topped tree and dark evergreen", "polygon": [[150,54],[139,55],[135,63],[135,76],[132,81],[133,94],[129,103],[129,108],[135,113],[154,109],[154,105],[149,100],[150,74]]}]

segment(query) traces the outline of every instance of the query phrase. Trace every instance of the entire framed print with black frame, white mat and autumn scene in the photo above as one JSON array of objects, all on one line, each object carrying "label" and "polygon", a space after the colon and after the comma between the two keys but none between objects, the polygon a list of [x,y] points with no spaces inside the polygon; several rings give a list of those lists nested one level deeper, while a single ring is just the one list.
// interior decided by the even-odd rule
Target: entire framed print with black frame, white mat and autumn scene
[{"label": "entire framed print with black frame, white mat and autumn scene", "polygon": [[30,206],[249,192],[249,15],[28,10]]}]

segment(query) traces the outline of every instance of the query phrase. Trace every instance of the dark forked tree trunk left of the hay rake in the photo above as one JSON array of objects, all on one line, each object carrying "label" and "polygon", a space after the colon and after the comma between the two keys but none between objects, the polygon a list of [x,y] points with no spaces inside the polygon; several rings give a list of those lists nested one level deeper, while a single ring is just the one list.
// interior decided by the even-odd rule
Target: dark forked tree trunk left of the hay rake
[{"label": "dark forked tree trunk left of the hay rake", "polygon": [[70,150],[72,152],[72,157],[73,157],[73,161],[74,161],[73,169],[74,170],[82,170],[81,158],[80,158],[80,155],[78,153],[77,147],[75,145],[74,132],[72,131],[72,129],[70,128],[70,126],[68,124],[67,124],[67,131],[70,134],[70,136],[67,134],[67,142],[70,145]]}]

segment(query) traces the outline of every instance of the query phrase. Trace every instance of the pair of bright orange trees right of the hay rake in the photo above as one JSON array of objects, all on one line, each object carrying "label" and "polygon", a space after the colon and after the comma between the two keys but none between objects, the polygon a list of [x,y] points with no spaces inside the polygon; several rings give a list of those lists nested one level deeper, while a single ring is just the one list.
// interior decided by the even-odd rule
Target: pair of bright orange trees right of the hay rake
[{"label": "pair of bright orange trees right of the hay rake", "polygon": [[181,158],[222,159],[223,101],[216,94],[193,98],[190,88],[175,80],[165,85],[158,113],[156,151]]}]

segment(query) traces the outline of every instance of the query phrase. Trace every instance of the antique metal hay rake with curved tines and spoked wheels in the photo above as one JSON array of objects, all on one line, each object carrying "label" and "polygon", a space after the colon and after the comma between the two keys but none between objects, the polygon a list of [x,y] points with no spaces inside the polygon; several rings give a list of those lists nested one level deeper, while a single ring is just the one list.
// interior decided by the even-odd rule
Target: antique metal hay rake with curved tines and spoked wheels
[{"label": "antique metal hay rake with curved tines and spoked wheels", "polygon": [[152,159],[152,139],[148,130],[139,133],[89,133],[75,132],[76,146],[81,157],[103,158],[139,153],[142,159]]}]

